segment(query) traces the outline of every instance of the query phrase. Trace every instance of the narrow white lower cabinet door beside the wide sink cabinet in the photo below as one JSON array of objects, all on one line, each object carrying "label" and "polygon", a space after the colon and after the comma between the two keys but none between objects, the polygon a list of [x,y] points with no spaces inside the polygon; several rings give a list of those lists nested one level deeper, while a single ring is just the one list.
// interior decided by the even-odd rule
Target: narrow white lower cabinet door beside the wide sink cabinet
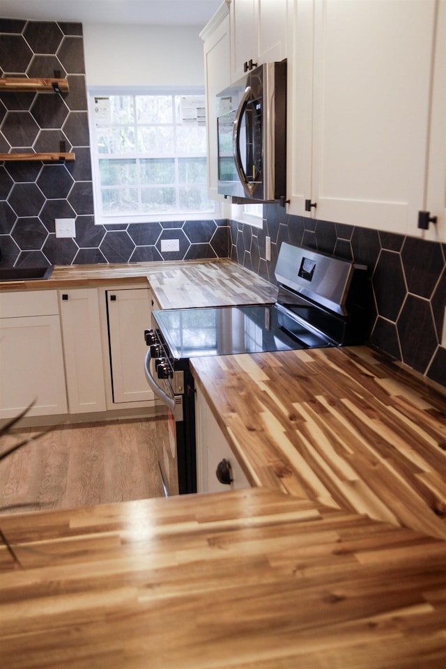
[{"label": "narrow white lower cabinet door beside the wide sink cabinet", "polygon": [[70,413],[105,411],[98,290],[59,292]]}]

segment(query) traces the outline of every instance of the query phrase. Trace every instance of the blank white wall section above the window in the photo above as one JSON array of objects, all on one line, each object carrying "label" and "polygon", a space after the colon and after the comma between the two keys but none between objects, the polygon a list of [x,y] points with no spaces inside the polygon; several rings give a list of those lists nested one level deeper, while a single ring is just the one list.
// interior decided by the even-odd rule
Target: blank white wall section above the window
[{"label": "blank white wall section above the window", "polygon": [[202,86],[199,26],[84,24],[87,86]]}]

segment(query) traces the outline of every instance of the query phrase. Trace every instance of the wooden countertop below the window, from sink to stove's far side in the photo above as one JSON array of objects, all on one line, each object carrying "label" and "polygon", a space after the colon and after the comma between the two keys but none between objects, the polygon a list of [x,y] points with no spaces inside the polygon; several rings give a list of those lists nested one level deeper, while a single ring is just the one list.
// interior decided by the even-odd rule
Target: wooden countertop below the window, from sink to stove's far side
[{"label": "wooden countertop below the window, from sink to stove's far side", "polygon": [[68,289],[149,282],[162,309],[271,304],[277,288],[229,259],[180,263],[56,266],[51,277],[3,281],[0,291]]}]

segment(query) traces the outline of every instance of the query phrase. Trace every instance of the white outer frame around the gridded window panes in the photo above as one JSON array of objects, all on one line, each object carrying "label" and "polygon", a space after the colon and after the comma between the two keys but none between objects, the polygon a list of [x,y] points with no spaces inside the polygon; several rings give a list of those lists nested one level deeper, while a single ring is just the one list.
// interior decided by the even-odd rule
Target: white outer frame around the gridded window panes
[{"label": "white outer frame around the gridded window panes", "polygon": [[[201,88],[191,86],[157,86],[157,87],[123,87],[123,86],[91,86],[87,89],[88,110],[89,110],[89,130],[90,130],[90,152],[91,152],[91,171],[93,178],[93,206],[94,219],[96,225],[122,225],[128,223],[151,223],[165,221],[186,221],[186,220],[214,220],[222,218],[222,206],[219,201],[214,201],[214,210],[212,212],[175,212],[175,213],[145,213],[145,214],[121,214],[121,215],[103,215],[102,200],[100,192],[100,174],[99,159],[95,137],[95,114],[94,98],[107,97],[108,95],[204,95]],[[207,160],[209,155],[207,155]]]}]

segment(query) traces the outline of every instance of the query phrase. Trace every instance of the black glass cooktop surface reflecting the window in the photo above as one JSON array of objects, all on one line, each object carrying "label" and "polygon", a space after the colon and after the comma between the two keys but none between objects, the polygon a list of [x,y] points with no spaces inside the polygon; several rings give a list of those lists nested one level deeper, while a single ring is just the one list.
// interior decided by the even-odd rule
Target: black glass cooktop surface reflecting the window
[{"label": "black glass cooktop surface reflecting the window", "polygon": [[153,318],[177,360],[332,346],[279,305],[165,309]]}]

